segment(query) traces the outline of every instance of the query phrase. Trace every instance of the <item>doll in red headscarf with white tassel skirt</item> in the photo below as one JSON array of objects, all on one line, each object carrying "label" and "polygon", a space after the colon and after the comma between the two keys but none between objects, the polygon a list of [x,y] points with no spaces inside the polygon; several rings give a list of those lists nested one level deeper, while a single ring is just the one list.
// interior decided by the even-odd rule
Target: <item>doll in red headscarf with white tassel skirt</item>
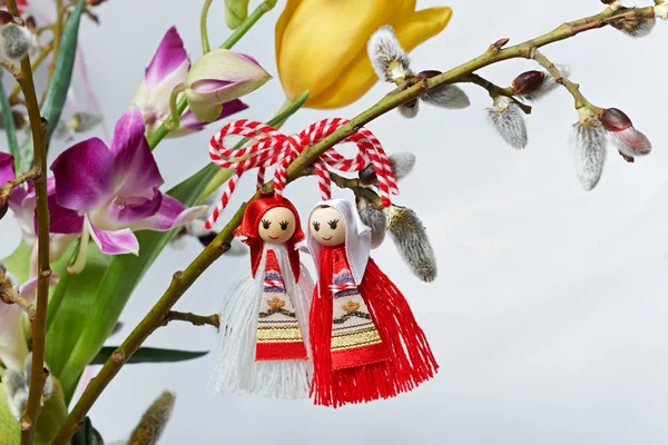
[{"label": "doll in red headscarf with white tassel skirt", "polygon": [[314,284],[295,248],[305,238],[297,210],[282,197],[256,199],[235,235],[250,247],[250,273],[224,297],[212,383],[216,392],[306,398]]}]

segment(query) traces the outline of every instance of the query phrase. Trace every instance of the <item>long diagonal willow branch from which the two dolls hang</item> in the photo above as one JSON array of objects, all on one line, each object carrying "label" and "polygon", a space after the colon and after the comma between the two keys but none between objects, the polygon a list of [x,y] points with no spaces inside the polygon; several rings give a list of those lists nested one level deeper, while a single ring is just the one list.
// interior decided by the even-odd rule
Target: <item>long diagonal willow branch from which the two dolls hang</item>
[{"label": "long diagonal willow branch from which the two dolls hang", "polygon": [[[639,17],[654,17],[654,8],[640,8],[635,10],[635,13],[637,13]],[[514,58],[530,58],[531,51],[534,48],[540,48],[549,43],[568,39],[589,29],[600,28],[609,22],[605,21],[603,19],[612,19],[616,17],[616,14],[617,13],[610,9],[606,9],[606,11],[601,12],[600,14],[564,23],[551,32],[507,49],[502,48],[505,43],[505,39],[502,39],[499,41],[501,43],[498,42],[490,46],[484,53],[468,61],[466,63],[463,63],[431,79],[421,81],[403,91],[385,96],[376,105],[351,119],[346,125],[340,127],[332,135],[321,140],[313,147],[305,149],[302,155],[288,167],[288,182],[306,175],[310,166],[331,147],[355,134],[360,127],[385,115],[400,105],[415,99],[425,92],[429,92],[431,89],[436,89],[444,85],[462,81],[474,71],[478,71],[479,69],[489,65]],[[620,16],[621,12],[618,14]],[[151,145],[151,147],[155,147],[155,145]],[[263,186],[262,190],[263,192],[272,191],[273,182],[267,182],[265,186]],[[256,199],[261,194],[256,192],[250,200]],[[216,259],[218,259],[225,251],[229,249],[229,243],[234,237],[234,230],[240,225],[246,206],[247,202],[242,205],[242,207],[223,228],[223,230],[216,236],[216,238],[197,256],[197,258],[195,258],[195,260],[193,260],[193,263],[190,263],[185,270],[174,274],[171,284],[163,294],[158,303],[156,303],[153,309],[144,317],[141,323],[139,323],[139,325],[132,330],[132,333],[130,333],[126,340],[118,347],[114,356],[107,360],[99,374],[88,384],[86,390],[79,398],[79,402],[75,405],[61,429],[51,442],[51,445],[65,444],[67,439],[71,437],[88,411],[105,390],[109,382],[111,382],[111,379],[120,372],[127,359],[132,356],[132,354],[141,346],[144,340],[146,340],[146,338],[148,338],[154,330],[163,326],[165,317],[171,310],[171,307],[180,299],[180,297],[197,280],[197,278],[199,278],[199,276],[212,264],[214,264]]]}]

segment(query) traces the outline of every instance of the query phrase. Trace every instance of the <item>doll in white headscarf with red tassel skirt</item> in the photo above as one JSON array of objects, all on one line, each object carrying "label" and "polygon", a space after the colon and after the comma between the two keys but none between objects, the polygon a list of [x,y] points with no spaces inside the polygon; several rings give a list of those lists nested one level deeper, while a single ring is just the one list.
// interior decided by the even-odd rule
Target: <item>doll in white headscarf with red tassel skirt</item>
[{"label": "doll in white headscarf with red tassel skirt", "polygon": [[405,297],[370,259],[371,230],[354,204],[327,200],[308,219],[318,283],[311,306],[316,405],[337,407],[409,392],[438,364]]}]

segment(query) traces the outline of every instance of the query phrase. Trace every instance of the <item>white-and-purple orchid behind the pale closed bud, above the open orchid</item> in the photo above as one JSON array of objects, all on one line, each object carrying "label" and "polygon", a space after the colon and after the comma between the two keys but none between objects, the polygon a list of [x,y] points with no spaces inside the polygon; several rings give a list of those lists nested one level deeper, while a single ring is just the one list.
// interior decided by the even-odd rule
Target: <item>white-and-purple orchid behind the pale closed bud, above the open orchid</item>
[{"label": "white-and-purple orchid behind the pale closed bud, above the open orchid", "polygon": [[[171,91],[186,81],[189,70],[190,59],[184,48],[184,42],[176,28],[171,27],[163,38],[150,65],[146,68],[144,79],[131,100],[131,103],[141,109],[149,135],[169,116]],[[238,99],[230,100],[223,106],[216,120],[247,108],[248,106]],[[208,123],[197,120],[189,110],[181,116],[180,120],[180,128],[171,131],[169,136],[183,136],[199,131]]]}]

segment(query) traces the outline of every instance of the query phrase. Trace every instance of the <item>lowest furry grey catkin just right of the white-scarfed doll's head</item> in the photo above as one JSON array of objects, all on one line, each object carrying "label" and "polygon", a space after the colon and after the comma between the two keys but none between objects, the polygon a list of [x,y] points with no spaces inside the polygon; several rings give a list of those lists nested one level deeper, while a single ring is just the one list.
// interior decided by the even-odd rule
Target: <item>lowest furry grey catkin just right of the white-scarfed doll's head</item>
[{"label": "lowest furry grey catkin just right of the white-scarfed doll's head", "polygon": [[405,207],[391,206],[390,235],[401,257],[423,281],[436,278],[436,257],[418,215]]}]

